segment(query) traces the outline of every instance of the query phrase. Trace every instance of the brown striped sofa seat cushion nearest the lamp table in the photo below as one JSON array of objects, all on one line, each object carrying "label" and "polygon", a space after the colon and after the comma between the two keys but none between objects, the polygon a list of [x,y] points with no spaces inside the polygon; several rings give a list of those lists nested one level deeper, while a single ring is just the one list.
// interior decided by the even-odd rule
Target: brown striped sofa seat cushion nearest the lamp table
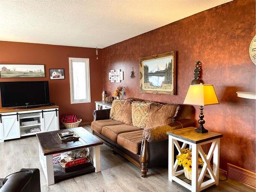
[{"label": "brown striped sofa seat cushion nearest the lamp table", "polygon": [[121,133],[117,136],[117,143],[134,154],[140,154],[143,130]]}]

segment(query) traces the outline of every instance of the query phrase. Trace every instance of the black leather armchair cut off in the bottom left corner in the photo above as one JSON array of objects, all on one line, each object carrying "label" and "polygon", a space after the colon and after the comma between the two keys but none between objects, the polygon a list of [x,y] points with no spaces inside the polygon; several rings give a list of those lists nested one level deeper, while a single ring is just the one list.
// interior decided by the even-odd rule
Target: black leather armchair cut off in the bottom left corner
[{"label": "black leather armchair cut off in the bottom left corner", "polygon": [[[1,179],[3,181],[3,179]],[[40,192],[40,172],[38,168],[22,168],[20,172],[7,177],[0,192]]]}]

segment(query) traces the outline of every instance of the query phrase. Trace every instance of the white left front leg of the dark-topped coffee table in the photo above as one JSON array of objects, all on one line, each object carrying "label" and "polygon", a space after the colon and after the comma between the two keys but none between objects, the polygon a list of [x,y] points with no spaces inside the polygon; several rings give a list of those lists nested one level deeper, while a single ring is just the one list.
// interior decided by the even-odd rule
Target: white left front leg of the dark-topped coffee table
[{"label": "white left front leg of the dark-topped coffee table", "polygon": [[46,176],[47,184],[54,184],[54,172],[53,172],[53,160],[52,155],[45,156],[42,153],[41,146],[39,144],[39,159],[41,162],[42,170]]}]

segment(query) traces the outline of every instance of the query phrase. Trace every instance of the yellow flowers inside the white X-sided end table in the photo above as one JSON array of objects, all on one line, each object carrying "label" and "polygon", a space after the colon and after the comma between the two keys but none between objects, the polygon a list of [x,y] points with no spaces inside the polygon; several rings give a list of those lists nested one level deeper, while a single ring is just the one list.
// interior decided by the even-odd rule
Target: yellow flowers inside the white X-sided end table
[{"label": "yellow flowers inside the white X-sided end table", "polygon": [[[177,155],[178,165],[183,166],[184,168],[187,168],[189,172],[192,171],[192,151],[188,148],[184,148],[181,150],[181,154]],[[201,157],[198,158],[198,165],[200,167],[203,167],[204,162]]]}]

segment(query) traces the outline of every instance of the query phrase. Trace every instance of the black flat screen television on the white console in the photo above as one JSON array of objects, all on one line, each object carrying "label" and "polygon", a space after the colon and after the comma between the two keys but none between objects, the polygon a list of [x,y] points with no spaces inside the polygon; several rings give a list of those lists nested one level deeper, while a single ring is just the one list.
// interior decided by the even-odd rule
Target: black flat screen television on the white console
[{"label": "black flat screen television on the white console", "polygon": [[2,108],[50,104],[48,81],[0,82]]}]

